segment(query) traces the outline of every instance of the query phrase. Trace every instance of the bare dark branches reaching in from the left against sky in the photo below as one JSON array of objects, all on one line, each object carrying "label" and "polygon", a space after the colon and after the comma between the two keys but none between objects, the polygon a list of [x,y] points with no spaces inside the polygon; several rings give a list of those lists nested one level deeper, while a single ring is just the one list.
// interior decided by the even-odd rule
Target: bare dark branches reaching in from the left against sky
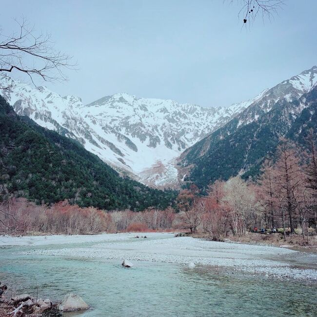
[{"label": "bare dark branches reaching in from the left against sky", "polygon": [[[37,34],[27,20],[17,22],[18,30],[6,35],[0,30],[0,72],[18,71],[48,80],[66,79],[63,70],[75,69],[69,55],[53,46],[50,34]],[[5,87],[7,88],[7,87]]]}]

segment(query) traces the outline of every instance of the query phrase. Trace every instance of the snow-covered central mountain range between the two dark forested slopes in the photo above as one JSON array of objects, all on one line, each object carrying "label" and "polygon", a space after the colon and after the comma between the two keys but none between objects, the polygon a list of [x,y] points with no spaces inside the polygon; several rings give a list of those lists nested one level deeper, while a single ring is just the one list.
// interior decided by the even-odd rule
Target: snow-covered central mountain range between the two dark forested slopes
[{"label": "snow-covered central mountain range between the two dark forested slopes", "polygon": [[12,87],[3,91],[3,97],[19,115],[78,140],[111,166],[156,186],[177,180],[175,158],[182,151],[254,102],[203,108],[116,94],[83,105],[77,97],[62,98],[45,87],[31,87],[0,74],[0,87],[8,85]]}]

